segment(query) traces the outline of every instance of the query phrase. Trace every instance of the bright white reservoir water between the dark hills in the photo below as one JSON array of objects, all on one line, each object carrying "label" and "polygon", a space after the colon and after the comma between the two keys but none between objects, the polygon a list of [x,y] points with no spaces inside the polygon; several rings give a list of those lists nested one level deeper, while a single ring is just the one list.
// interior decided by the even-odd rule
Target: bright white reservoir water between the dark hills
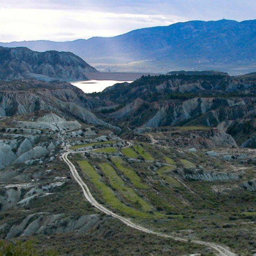
[{"label": "bright white reservoir water between the dark hills", "polygon": [[133,81],[117,81],[117,80],[88,80],[71,82],[84,93],[102,92],[105,88],[117,84],[119,82],[133,82]]}]

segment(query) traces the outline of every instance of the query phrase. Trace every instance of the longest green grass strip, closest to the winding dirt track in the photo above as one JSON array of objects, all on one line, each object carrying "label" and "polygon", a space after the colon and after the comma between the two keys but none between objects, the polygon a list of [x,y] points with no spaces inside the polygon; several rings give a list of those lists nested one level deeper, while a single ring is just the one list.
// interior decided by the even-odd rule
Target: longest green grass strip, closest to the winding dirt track
[{"label": "longest green grass strip, closest to the winding dirt track", "polygon": [[121,201],[115,197],[114,192],[111,188],[109,188],[106,184],[101,182],[100,175],[94,170],[94,168],[89,164],[86,160],[81,160],[77,162],[81,168],[81,170],[89,176],[90,180],[96,186],[97,189],[101,191],[102,199],[106,204],[110,205],[113,209],[117,209],[123,213],[129,214],[130,216],[136,217],[152,217],[151,214],[139,212],[133,208],[127,207],[127,205],[122,204]]}]

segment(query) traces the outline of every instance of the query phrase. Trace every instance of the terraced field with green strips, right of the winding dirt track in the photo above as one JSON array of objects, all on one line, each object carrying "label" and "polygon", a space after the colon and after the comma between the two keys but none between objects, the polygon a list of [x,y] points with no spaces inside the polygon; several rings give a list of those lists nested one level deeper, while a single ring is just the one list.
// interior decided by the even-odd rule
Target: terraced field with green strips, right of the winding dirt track
[{"label": "terraced field with green strips, right of the winding dirt track", "polygon": [[143,143],[94,152],[81,154],[84,160],[78,164],[84,179],[89,177],[96,199],[107,208],[146,228],[193,239],[203,237],[204,241],[223,241],[241,253],[250,247],[249,242],[256,245],[255,238],[246,232],[249,240],[240,237],[237,249],[235,238],[225,232],[238,236],[246,220],[255,219],[255,196],[240,186],[253,176],[250,166],[238,180],[184,180],[179,170],[189,173],[200,166],[209,173],[230,172],[236,170],[237,163],[211,158],[203,150],[191,154],[180,148]]}]

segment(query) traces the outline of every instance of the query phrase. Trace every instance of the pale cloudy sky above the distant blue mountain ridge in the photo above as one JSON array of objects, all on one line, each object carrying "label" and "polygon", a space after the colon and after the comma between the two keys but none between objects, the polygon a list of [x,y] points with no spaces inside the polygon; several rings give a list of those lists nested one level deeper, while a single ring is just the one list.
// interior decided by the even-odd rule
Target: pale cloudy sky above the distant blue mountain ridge
[{"label": "pale cloudy sky above the distant blue mountain ridge", "polygon": [[0,0],[0,42],[110,37],[188,20],[256,19],[255,0]]}]

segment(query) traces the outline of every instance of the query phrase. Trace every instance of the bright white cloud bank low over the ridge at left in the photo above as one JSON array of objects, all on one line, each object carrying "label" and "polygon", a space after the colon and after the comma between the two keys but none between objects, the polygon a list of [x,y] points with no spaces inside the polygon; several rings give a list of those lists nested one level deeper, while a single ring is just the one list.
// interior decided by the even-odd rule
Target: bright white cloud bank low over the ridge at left
[{"label": "bright white cloud bank low over the ridge at left", "polygon": [[13,35],[16,35],[17,41],[110,37],[137,28],[166,26],[174,20],[179,21],[179,17],[82,10],[0,9],[0,31],[4,35],[0,41],[10,42]]}]

